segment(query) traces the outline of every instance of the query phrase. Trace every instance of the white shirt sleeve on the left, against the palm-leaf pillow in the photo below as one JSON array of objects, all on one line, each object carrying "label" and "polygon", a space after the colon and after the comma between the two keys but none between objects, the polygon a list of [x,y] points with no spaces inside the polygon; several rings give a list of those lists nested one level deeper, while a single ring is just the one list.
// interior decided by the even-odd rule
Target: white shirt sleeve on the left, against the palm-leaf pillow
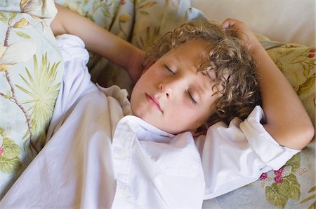
[{"label": "white shirt sleeve on the left, against the palm-leaf pillow", "polygon": [[74,35],[62,34],[56,37],[56,43],[62,54],[65,71],[62,75],[47,139],[57,131],[67,117],[68,111],[76,106],[82,96],[98,91],[96,85],[91,82],[91,75],[86,67],[89,55],[84,41]]}]

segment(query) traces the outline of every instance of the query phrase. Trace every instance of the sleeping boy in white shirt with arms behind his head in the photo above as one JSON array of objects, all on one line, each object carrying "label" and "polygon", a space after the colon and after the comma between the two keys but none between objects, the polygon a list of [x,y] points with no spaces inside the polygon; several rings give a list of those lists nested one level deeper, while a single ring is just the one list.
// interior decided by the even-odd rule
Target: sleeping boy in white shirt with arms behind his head
[{"label": "sleeping boy in white shirt with arms behind his head", "polygon": [[[312,139],[294,89],[242,22],[189,22],[145,53],[56,7],[65,74],[51,139],[1,208],[201,208]],[[137,80],[131,102],[91,82],[85,48]]]}]

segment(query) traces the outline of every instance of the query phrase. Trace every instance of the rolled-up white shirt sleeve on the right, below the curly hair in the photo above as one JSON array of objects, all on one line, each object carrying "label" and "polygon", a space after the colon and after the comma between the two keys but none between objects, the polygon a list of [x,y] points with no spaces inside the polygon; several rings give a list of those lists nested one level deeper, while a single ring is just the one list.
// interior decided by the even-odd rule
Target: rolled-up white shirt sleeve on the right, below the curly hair
[{"label": "rolled-up white shirt sleeve on the right, below the curly hair", "polygon": [[206,136],[197,138],[206,182],[204,199],[254,182],[300,152],[279,145],[265,131],[263,119],[262,108],[256,106],[243,122],[237,117],[228,126],[218,122],[209,127]]}]

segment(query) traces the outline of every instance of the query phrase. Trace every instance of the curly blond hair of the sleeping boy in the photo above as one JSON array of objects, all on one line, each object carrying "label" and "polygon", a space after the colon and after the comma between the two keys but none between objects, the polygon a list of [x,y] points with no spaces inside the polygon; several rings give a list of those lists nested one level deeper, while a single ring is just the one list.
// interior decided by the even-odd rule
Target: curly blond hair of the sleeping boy
[{"label": "curly blond hair of the sleeping boy", "polygon": [[218,121],[229,123],[234,117],[244,120],[261,103],[261,94],[256,63],[244,42],[237,38],[236,31],[222,30],[216,22],[201,20],[181,24],[147,49],[143,69],[169,50],[190,40],[206,41],[209,45],[207,62],[201,64],[198,71],[213,71],[213,90],[222,94],[216,101],[216,114],[206,122],[207,127]]}]

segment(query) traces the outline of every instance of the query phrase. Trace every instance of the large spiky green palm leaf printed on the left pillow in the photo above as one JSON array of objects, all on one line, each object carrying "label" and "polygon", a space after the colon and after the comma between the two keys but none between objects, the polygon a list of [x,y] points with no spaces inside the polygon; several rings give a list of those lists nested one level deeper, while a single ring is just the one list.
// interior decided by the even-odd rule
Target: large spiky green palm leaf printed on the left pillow
[{"label": "large spiky green palm leaf printed on the left pillow", "polygon": [[[25,82],[26,87],[15,85],[25,94],[29,95],[29,99],[24,100],[24,104],[30,104],[31,108],[27,110],[32,118],[32,131],[34,133],[34,141],[40,149],[46,142],[45,131],[48,128],[48,122],[53,114],[55,105],[55,98],[58,95],[60,82],[55,83],[56,74],[58,73],[58,66],[60,62],[53,63],[51,66],[48,62],[48,55],[45,53],[41,57],[41,64],[38,65],[37,56],[33,57],[34,76],[31,75],[30,70],[25,68],[27,78],[20,74],[20,77]],[[27,139],[28,132],[25,133],[23,139]],[[27,147],[25,147],[27,149]]]}]

